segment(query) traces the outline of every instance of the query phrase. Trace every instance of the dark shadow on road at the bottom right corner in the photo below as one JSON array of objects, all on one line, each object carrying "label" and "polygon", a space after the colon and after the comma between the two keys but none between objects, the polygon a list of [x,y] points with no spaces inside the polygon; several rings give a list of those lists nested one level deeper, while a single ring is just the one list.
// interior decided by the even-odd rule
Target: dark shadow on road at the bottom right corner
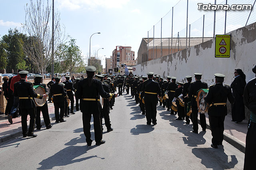
[{"label": "dark shadow on road at the bottom right corner", "polygon": [[228,156],[224,152],[223,146],[218,146],[218,149],[214,148],[193,148],[192,153],[201,159],[201,163],[206,168],[212,168],[212,170],[226,170],[234,168],[238,163],[235,155]]}]

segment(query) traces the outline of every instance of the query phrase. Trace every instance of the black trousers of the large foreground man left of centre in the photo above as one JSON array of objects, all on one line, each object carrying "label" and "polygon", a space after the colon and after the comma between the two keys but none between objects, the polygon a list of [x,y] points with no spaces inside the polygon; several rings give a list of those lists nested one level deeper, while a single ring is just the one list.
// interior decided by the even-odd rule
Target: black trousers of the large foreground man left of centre
[{"label": "black trousers of the large foreground man left of centre", "polygon": [[91,118],[93,116],[93,126],[94,126],[94,136],[95,136],[95,142],[100,142],[102,140],[102,128],[101,128],[101,118],[100,118],[100,112],[82,112],[82,118],[83,118],[83,129],[84,129],[84,135],[86,137],[86,142],[91,143]]}]

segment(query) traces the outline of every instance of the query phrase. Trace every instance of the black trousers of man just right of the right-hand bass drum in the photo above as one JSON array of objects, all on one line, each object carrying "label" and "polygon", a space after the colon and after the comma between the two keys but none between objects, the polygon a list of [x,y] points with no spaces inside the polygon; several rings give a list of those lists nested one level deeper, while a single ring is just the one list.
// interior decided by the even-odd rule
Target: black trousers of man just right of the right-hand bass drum
[{"label": "black trousers of man just right of the right-hand bass drum", "polygon": [[224,132],[224,120],[225,116],[210,116],[209,122],[210,128],[212,131],[212,144],[218,145],[223,141],[223,132]]}]

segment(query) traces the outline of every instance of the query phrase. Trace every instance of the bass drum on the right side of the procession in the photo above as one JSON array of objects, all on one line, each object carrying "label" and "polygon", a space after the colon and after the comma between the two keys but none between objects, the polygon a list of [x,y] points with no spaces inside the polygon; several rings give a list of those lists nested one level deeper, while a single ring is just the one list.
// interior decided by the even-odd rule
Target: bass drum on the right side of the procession
[{"label": "bass drum on the right side of the procession", "polygon": [[199,112],[201,113],[207,113],[209,104],[205,102],[204,97],[207,95],[209,92],[209,89],[200,89],[198,91],[197,97],[196,97],[196,102],[197,102],[197,107]]}]

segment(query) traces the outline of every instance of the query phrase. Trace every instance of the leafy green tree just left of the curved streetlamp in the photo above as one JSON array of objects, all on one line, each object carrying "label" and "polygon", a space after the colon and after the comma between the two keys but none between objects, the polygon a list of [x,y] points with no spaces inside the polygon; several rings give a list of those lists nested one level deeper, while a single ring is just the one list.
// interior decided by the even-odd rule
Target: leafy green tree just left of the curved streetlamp
[{"label": "leafy green tree just left of the curved streetlamp", "polygon": [[68,43],[61,44],[56,55],[61,61],[61,67],[69,71],[71,76],[82,63],[81,50],[76,45],[75,39],[71,39]]}]

